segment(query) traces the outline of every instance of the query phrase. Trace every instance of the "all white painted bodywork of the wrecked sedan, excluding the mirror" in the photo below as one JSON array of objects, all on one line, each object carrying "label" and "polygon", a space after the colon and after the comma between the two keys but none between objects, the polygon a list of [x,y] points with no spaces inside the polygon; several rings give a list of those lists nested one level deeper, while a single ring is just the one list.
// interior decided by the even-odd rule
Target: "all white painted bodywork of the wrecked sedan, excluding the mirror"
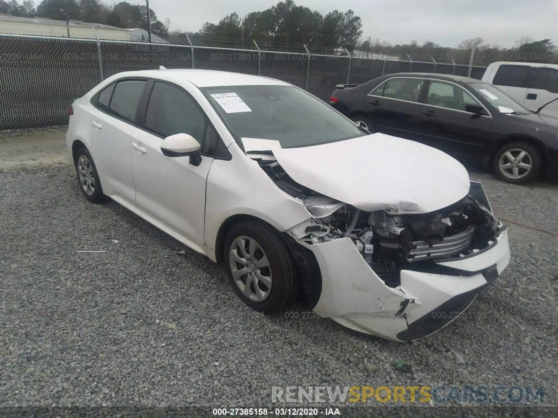
[{"label": "all white painted bodywork of the wrecked sedan, excluding the mirror", "polygon": [[[128,76],[166,80],[188,91],[217,130],[231,159],[201,157],[201,164],[194,166],[190,157],[166,157],[160,149],[161,138],[90,104],[98,91]],[[311,307],[316,313],[393,341],[402,341],[398,334],[441,304],[468,292],[474,298],[474,292],[487,284],[480,270],[496,265],[501,273],[506,268],[509,245],[505,230],[478,255],[436,262],[469,275],[404,269],[401,284],[395,287],[386,285],[372,270],[351,238],[318,244],[303,241],[308,226],[316,226],[317,218],[331,215],[343,203],[363,211],[386,210],[398,215],[447,207],[469,193],[469,176],[449,155],[385,134],[285,149],[273,140],[242,138],[248,152],[272,151],[247,155],[198,87],[254,84],[288,85],[265,77],[205,70],[114,75],[74,101],[66,135],[68,152],[72,155],[75,140],[82,142],[92,154],[106,195],[213,261],[222,250],[217,247],[219,230],[231,217],[251,216],[267,222],[318,261],[321,291]],[[102,129],[94,128],[93,121]],[[320,215],[314,218],[302,200],[277,187],[254,158],[276,160],[294,181],[325,195],[324,204],[316,206]],[[341,203],[328,204],[328,198]]]}]

